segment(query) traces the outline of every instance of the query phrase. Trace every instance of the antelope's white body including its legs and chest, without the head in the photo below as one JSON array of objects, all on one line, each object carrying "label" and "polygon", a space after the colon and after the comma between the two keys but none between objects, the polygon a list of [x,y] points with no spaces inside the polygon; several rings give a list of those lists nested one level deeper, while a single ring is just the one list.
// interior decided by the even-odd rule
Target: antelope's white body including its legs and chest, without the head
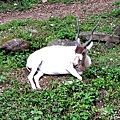
[{"label": "antelope's white body including its legs and chest, without the head", "polygon": [[[82,80],[82,77],[73,67],[75,59],[76,46],[49,46],[32,53],[27,59],[26,68],[31,68],[28,79],[32,85],[32,89],[39,88],[38,80],[44,74],[72,74],[77,79]],[[86,66],[90,66],[91,59],[86,57]],[[75,63],[77,64],[77,63]],[[39,69],[39,70],[37,70]],[[37,74],[35,74],[37,71]],[[34,84],[33,82],[36,84]]]}]

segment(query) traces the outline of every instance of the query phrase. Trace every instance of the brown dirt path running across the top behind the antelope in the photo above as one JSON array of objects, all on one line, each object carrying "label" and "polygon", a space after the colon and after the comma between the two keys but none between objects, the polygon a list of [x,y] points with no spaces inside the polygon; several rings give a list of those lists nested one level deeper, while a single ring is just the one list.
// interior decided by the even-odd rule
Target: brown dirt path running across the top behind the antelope
[{"label": "brown dirt path running across the top behind the antelope", "polygon": [[85,0],[74,4],[35,4],[35,9],[25,11],[8,11],[0,13],[0,24],[10,22],[17,19],[34,19],[45,20],[50,17],[62,17],[65,15],[80,16],[83,20],[89,15],[99,15],[105,11],[114,9],[113,2],[115,0]]}]

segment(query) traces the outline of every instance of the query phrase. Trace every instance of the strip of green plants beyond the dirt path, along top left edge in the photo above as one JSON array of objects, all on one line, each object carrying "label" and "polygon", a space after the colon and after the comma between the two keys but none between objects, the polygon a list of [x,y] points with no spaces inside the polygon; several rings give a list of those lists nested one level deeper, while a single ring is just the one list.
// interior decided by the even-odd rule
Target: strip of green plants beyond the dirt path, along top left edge
[{"label": "strip of green plants beyond the dirt path, along top left edge", "polygon": [[[65,4],[71,4],[74,2],[84,2],[85,0],[48,0],[49,3],[58,3],[62,2]],[[10,0],[10,2],[5,3],[4,1],[0,1],[0,11],[23,11],[27,9],[34,8],[34,4],[41,4],[42,0]]]}]

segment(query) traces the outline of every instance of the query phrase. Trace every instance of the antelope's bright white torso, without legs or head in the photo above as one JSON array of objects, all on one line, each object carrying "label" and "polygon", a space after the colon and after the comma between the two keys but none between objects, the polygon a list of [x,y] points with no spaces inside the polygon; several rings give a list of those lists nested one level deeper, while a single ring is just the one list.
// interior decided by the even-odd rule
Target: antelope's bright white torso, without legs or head
[{"label": "antelope's bright white torso, without legs or head", "polygon": [[34,66],[42,62],[40,71],[44,74],[68,74],[66,67],[73,65],[75,46],[49,46],[32,53],[27,59],[26,67]]}]

